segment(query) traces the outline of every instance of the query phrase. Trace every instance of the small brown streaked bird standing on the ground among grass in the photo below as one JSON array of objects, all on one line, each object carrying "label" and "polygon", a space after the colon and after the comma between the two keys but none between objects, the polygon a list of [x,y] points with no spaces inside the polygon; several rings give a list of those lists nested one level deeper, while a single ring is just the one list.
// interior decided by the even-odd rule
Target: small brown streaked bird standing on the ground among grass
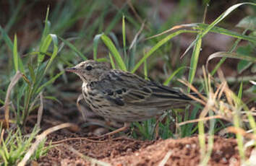
[{"label": "small brown streaked bird standing on the ground among grass", "polygon": [[66,71],[82,79],[82,96],[93,112],[124,123],[122,128],[103,136],[125,131],[132,122],[157,117],[170,108],[180,108],[192,101],[183,92],[129,71],[111,69],[103,62],[82,61]]}]

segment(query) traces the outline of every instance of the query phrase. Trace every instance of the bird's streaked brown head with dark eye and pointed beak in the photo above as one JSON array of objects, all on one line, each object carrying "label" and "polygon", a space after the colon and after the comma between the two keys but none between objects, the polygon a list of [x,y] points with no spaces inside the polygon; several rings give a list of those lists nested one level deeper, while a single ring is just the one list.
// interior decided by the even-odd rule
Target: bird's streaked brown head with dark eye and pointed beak
[{"label": "bird's streaked brown head with dark eye and pointed beak", "polygon": [[66,71],[77,74],[83,82],[98,81],[102,74],[109,71],[109,67],[104,64],[93,60],[82,61],[77,66],[67,68]]}]

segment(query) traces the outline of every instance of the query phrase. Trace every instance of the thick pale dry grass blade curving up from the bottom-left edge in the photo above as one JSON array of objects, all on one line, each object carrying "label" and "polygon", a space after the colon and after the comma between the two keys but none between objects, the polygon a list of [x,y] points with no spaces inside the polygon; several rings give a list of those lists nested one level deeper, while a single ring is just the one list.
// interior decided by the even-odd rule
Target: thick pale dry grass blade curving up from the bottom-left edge
[{"label": "thick pale dry grass blade curving up from the bottom-left edge", "polygon": [[24,166],[26,164],[26,162],[30,159],[32,154],[35,152],[35,149],[38,147],[40,142],[43,141],[43,139],[45,139],[48,134],[51,134],[54,131],[57,131],[57,130],[59,130],[61,128],[68,128],[68,127],[76,127],[76,126],[74,124],[72,124],[72,123],[62,123],[62,124],[60,124],[58,126],[54,126],[54,127],[48,128],[46,131],[43,131],[42,134],[36,136],[35,142],[32,144],[30,149],[27,151],[27,153],[23,157],[22,161],[19,162],[18,166]]}]

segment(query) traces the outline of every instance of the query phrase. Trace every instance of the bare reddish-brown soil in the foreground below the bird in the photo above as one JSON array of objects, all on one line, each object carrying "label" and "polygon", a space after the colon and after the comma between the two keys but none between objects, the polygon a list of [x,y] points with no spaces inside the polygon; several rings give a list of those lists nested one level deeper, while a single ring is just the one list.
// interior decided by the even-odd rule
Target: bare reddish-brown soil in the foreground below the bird
[{"label": "bare reddish-brown soil in the foreground below the bird", "polygon": [[[78,136],[80,134],[72,134]],[[69,131],[62,130],[51,134],[48,140],[70,138]],[[76,149],[85,157],[107,162],[111,165],[159,165],[167,157],[165,165],[198,165],[200,146],[197,136],[184,139],[159,139],[139,141],[127,137],[104,140],[95,143],[84,139],[65,141],[55,145],[45,157],[37,162],[40,165],[92,165],[91,159],[82,159],[72,152]],[[169,155],[169,156],[166,156]],[[240,165],[235,139],[214,138],[213,152],[209,165]]]}]

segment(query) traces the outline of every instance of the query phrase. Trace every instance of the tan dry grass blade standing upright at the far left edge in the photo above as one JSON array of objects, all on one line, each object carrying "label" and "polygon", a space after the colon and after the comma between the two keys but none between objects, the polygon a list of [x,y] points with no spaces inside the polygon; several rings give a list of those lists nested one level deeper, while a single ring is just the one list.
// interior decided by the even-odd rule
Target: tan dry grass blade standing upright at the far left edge
[{"label": "tan dry grass blade standing upright at the far left edge", "polygon": [[11,95],[12,88],[14,87],[15,84],[17,84],[17,82],[21,77],[22,77],[22,73],[20,71],[17,71],[14,77],[12,78],[12,81],[10,82],[9,87],[7,89],[7,95],[4,100],[4,111],[5,111],[4,117],[7,123],[7,128],[9,128],[9,97]]}]

